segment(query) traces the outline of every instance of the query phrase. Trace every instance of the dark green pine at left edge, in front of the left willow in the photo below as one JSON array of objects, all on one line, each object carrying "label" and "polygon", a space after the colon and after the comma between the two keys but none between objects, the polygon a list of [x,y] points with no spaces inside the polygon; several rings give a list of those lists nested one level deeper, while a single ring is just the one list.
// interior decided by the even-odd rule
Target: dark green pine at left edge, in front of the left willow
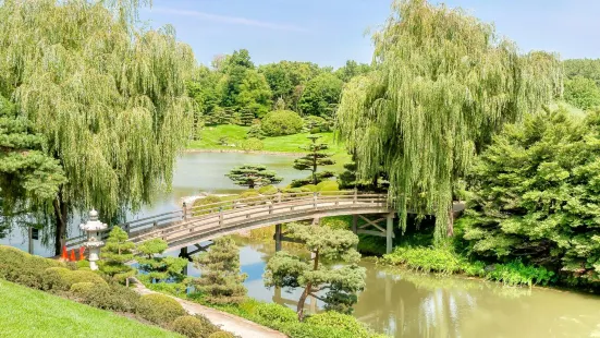
[{"label": "dark green pine at left edge, in front of the left willow", "polygon": [[0,238],[14,225],[32,226],[32,213],[45,212],[66,182],[45,146],[32,122],[0,95]]}]

